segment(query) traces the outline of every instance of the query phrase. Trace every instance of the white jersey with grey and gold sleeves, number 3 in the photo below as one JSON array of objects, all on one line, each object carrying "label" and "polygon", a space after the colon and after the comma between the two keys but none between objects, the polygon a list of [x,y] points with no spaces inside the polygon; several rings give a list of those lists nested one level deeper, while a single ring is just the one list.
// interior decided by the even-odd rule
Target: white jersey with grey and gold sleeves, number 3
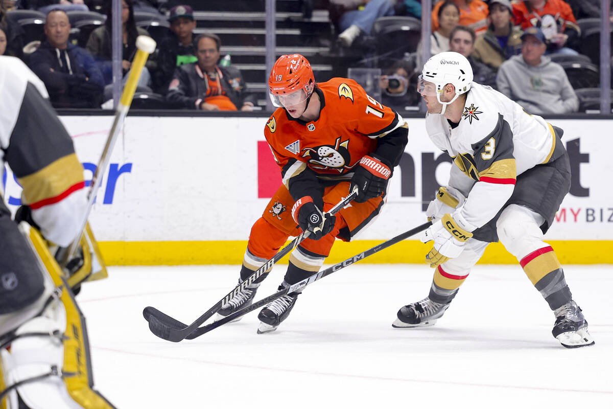
[{"label": "white jersey with grey and gold sleeves, number 3", "polygon": [[425,121],[432,142],[454,159],[449,186],[467,196],[459,211],[470,231],[498,213],[511,197],[517,175],[563,151],[562,146],[555,149],[559,138],[543,118],[474,82],[458,126],[452,129],[440,114],[428,114]]}]

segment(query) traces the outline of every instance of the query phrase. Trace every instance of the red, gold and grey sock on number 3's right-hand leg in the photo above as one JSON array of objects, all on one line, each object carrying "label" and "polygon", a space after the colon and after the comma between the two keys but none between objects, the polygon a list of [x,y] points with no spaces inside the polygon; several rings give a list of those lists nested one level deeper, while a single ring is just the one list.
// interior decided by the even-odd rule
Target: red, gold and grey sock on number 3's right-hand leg
[{"label": "red, gold and grey sock on number 3's right-hand leg", "polygon": [[552,310],[573,299],[566,285],[562,265],[551,246],[533,251],[521,259],[519,264]]}]

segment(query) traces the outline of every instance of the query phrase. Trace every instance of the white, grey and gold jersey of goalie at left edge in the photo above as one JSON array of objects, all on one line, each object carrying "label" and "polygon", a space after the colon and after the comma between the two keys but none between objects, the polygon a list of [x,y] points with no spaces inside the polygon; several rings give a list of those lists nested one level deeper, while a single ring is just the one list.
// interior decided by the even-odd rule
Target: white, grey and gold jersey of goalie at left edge
[{"label": "white, grey and gold jersey of goalie at left edge", "polygon": [[[72,139],[45,99],[44,83],[20,59],[0,56],[0,93],[0,177],[7,162],[40,232],[67,246],[80,232],[87,208]],[[0,207],[2,194],[0,186]]]}]

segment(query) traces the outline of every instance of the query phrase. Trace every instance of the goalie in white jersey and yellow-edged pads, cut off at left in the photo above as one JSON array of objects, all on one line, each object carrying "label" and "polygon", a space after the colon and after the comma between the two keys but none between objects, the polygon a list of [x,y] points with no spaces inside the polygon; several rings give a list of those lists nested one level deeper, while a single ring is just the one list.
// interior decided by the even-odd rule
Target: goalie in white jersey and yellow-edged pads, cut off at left
[{"label": "goalie in white jersey and yellow-edged pads, cut off at left", "polygon": [[112,409],[93,389],[85,320],[47,242],[79,234],[83,167],[20,59],[0,56],[0,92],[0,177],[6,162],[23,186],[19,226],[0,189],[0,409]]}]

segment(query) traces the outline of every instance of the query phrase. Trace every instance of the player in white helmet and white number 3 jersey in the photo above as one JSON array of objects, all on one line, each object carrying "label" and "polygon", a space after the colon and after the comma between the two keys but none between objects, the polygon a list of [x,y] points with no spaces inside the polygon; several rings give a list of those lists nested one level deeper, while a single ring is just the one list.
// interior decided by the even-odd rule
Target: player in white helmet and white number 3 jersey
[{"label": "player in white helmet and white number 3 jersey", "polygon": [[474,83],[459,53],[428,59],[418,91],[428,108],[428,136],[454,166],[426,212],[433,224],[422,241],[433,241],[426,262],[436,269],[430,293],[400,308],[392,326],[434,324],[488,243],[500,240],[554,312],[554,337],[568,348],[593,345],[562,266],[543,241],[570,188],[562,129]]}]

